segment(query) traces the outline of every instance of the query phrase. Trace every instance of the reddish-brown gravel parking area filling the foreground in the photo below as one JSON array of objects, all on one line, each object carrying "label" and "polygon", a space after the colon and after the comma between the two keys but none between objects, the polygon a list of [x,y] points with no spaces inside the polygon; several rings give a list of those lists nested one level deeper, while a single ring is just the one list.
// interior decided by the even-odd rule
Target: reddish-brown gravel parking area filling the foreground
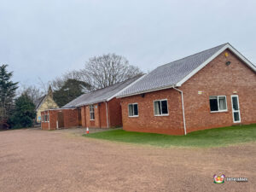
[{"label": "reddish-brown gravel parking area filling the foreground", "polygon": [[[0,131],[0,192],[255,191],[256,143],[156,148],[73,131]],[[75,132],[75,129],[74,129]],[[214,174],[248,183],[213,183]]]}]

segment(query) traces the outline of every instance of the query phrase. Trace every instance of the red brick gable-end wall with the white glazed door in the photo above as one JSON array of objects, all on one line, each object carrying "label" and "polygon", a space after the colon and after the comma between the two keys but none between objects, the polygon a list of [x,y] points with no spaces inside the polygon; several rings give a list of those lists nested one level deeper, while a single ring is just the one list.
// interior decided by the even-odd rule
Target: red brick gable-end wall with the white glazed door
[{"label": "red brick gable-end wall with the white glazed door", "polygon": [[[226,58],[224,53],[228,52]],[[226,66],[226,61],[231,61]],[[256,123],[256,74],[229,50],[224,51],[181,87],[188,131],[235,125],[231,95],[239,96],[241,124]],[[198,91],[202,91],[198,95]],[[226,96],[228,112],[210,113],[209,96]]]}]

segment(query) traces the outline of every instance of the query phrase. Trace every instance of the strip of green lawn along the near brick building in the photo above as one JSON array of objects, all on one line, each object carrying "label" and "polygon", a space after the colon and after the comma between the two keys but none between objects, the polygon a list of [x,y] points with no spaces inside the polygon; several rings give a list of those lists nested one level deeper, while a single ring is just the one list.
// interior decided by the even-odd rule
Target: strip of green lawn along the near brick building
[{"label": "strip of green lawn along the near brick building", "polygon": [[102,131],[84,137],[114,142],[147,144],[160,147],[219,147],[256,141],[256,124],[237,125],[211,130],[195,131],[187,136],[169,136],[123,130]]}]

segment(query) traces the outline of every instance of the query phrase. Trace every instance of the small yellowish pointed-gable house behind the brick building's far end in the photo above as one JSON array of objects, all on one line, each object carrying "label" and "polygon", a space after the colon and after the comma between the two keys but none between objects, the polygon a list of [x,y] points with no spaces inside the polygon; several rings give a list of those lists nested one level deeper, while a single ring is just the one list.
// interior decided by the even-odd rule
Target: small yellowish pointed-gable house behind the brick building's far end
[{"label": "small yellowish pointed-gable house behind the brick building's far end", "polygon": [[48,93],[36,101],[36,111],[37,111],[37,123],[41,122],[41,112],[48,110],[50,108],[59,108],[58,105],[53,100],[53,92],[51,86],[49,85]]}]

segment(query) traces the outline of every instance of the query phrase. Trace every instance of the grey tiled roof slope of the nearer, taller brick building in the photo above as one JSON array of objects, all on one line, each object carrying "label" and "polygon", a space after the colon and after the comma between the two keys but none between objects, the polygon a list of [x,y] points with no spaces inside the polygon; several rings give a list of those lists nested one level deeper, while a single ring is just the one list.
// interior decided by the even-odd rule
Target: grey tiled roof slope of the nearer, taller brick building
[{"label": "grey tiled roof slope of the nearer, taller brick building", "polygon": [[122,91],[119,96],[136,95],[137,93],[157,90],[177,84],[225,45],[226,44],[222,44],[218,47],[207,49],[195,55],[190,55],[183,59],[172,61],[166,65],[157,67],[151,73],[148,73],[148,75],[138,80],[135,84],[132,84],[129,88]]}]

